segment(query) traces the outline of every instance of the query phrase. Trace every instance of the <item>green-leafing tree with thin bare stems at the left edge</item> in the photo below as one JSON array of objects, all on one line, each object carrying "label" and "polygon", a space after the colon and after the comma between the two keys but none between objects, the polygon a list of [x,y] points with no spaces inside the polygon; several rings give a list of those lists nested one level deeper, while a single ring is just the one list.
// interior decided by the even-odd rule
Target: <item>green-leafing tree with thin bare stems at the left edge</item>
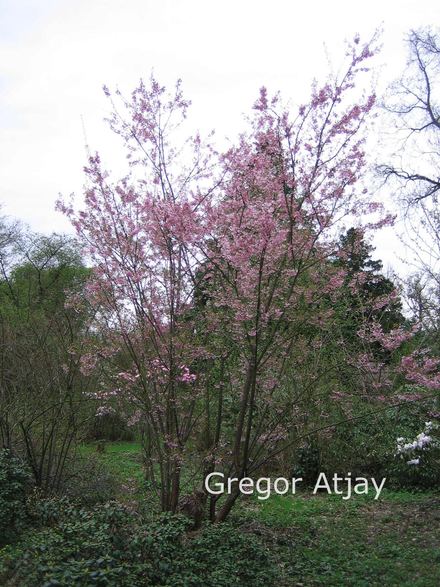
[{"label": "green-leafing tree with thin bare stems at the left edge", "polygon": [[0,283],[0,433],[47,493],[60,487],[91,415],[84,392],[93,382],[78,365],[87,317],[79,305],[66,304],[67,293],[80,294],[89,270],[75,243],[55,234],[16,233],[9,259]]}]

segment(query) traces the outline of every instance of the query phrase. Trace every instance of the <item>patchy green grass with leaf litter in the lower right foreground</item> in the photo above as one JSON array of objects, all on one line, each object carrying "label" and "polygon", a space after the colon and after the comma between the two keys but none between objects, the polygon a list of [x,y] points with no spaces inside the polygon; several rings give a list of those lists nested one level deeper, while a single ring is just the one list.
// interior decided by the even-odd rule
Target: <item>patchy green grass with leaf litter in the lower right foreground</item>
[{"label": "patchy green grass with leaf litter in the lower right foreground", "polygon": [[243,504],[235,523],[259,533],[282,568],[280,584],[440,585],[440,497],[383,491],[274,495]]}]

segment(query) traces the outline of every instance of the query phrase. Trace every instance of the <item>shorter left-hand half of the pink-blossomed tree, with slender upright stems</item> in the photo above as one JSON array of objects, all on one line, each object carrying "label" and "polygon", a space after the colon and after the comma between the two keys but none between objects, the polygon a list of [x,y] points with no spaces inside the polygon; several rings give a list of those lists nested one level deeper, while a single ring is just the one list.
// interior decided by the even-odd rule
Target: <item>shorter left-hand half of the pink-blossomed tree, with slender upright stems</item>
[{"label": "shorter left-hand half of the pink-blossomed tree, with slender upright stems", "polygon": [[[185,311],[203,238],[201,205],[214,189],[211,184],[202,192],[199,186],[211,177],[214,153],[196,136],[182,145],[190,153],[187,165],[182,163],[170,136],[178,133],[189,103],[180,82],[174,96],[167,96],[150,81],[150,88],[141,83],[134,90],[130,102],[117,92],[128,122],[104,87],[113,105],[110,126],[123,138],[131,168],[141,168],[143,176],[135,182],[128,174],[111,183],[99,155],[90,154],[84,210],[76,215],[72,202],[58,205],[94,266],[87,295],[99,306],[95,326],[104,343],[91,346],[83,369],[93,369],[99,355],[108,360],[111,389],[133,400],[130,423],[141,420],[145,428],[154,490],[163,510],[174,511],[200,387],[200,369],[194,375],[198,346]],[[108,392],[102,395],[105,400]]]}]

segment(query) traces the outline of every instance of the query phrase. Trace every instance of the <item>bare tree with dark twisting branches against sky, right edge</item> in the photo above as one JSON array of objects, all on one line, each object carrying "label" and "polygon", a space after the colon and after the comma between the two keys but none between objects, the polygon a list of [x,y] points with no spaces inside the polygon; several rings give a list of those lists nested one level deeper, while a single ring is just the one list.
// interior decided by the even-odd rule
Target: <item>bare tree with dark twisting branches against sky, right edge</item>
[{"label": "bare tree with dark twisting branches against sky, right edge", "polygon": [[390,123],[385,141],[397,149],[376,172],[394,193],[405,226],[401,239],[417,267],[407,282],[409,308],[433,332],[440,291],[440,29],[411,30],[405,43],[407,66],[383,103]]}]

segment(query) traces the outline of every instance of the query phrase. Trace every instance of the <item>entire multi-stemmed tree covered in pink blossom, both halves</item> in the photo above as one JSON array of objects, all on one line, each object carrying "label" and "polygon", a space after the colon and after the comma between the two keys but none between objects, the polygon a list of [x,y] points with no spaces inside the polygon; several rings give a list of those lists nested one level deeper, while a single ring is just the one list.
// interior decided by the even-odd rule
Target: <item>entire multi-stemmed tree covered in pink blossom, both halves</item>
[{"label": "entire multi-stemmed tree covered in pink blossom, both halves", "polygon": [[[92,373],[106,361],[103,409],[116,392],[113,406],[140,430],[164,511],[178,507],[183,465],[201,481],[224,470],[237,481],[218,511],[210,496],[209,517],[225,519],[238,481],[297,441],[302,404],[286,382],[293,369],[302,397],[316,390],[323,341],[342,336],[339,237],[355,225],[359,243],[392,222],[362,183],[375,95],[355,82],[368,77],[377,39],[347,47],[345,72],[314,83],[299,109],[262,88],[248,131],[224,154],[212,137],[178,146],[189,106],[180,82],[168,96],[151,77],[130,100],[104,87],[130,173],[115,183],[90,154],[83,210],[59,201],[93,264],[87,296],[97,337],[86,341],[81,368]],[[352,276],[353,298],[359,279]],[[371,308],[364,300],[360,315],[371,311],[371,319],[359,330],[364,352],[350,357],[353,369],[377,372],[371,345],[391,352],[412,335],[384,332],[375,318],[395,296]],[[418,362],[427,376],[434,371],[422,357],[406,360],[409,382],[421,383]]]}]

